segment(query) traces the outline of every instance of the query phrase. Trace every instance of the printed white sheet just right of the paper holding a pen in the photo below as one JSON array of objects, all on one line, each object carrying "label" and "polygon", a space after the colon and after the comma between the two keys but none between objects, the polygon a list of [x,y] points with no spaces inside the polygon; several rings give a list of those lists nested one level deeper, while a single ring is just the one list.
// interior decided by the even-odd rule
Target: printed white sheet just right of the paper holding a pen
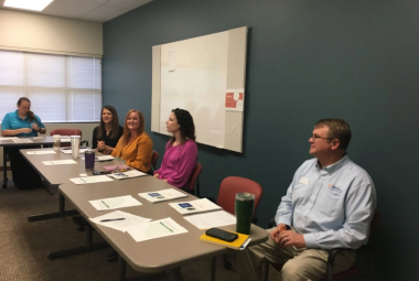
[{"label": "printed white sheet just right of the paper holding a pen", "polygon": [[128,230],[128,234],[137,242],[185,233],[187,230],[170,217],[150,221]]}]

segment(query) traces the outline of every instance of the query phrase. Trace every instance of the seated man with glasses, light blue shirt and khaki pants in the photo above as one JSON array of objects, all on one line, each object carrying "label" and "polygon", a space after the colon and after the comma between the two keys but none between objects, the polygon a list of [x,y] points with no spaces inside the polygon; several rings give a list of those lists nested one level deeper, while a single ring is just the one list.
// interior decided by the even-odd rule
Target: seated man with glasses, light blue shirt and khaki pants
[{"label": "seated man with glasses, light blue shirt and khaki pants", "polygon": [[369,175],[346,154],[351,128],[342,119],[322,119],[314,126],[310,154],[282,197],[267,242],[238,255],[240,280],[260,280],[266,260],[284,263],[282,281],[325,277],[332,248],[347,248],[335,258],[334,272],[347,270],[355,251],[368,240],[376,207]]}]

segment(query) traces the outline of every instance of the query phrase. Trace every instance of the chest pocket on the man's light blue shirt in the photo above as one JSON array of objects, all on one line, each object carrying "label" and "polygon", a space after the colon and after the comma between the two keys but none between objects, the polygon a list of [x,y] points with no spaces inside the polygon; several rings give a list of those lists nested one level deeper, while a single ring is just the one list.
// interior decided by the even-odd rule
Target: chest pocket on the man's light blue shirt
[{"label": "chest pocket on the man's light blue shirt", "polygon": [[336,209],[342,207],[343,196],[344,193],[339,187],[332,186],[322,188],[316,202],[320,213],[327,216],[334,215]]}]

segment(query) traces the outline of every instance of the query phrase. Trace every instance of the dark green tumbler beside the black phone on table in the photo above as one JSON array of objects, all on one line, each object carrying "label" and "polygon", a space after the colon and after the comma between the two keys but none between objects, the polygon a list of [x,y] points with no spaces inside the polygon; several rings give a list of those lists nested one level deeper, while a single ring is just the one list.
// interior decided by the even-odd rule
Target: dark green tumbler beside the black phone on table
[{"label": "dark green tumbler beside the black phone on table", "polygon": [[254,217],[255,195],[251,193],[236,194],[236,231],[250,234],[251,218]]}]

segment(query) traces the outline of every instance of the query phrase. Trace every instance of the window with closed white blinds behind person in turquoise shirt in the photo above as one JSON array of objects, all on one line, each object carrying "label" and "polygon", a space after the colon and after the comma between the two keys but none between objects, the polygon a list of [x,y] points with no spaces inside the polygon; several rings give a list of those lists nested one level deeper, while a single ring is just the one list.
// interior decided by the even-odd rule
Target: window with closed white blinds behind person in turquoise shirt
[{"label": "window with closed white blinds behind person in turquoise shirt", "polygon": [[0,51],[0,121],[20,97],[43,122],[99,121],[101,60]]}]

